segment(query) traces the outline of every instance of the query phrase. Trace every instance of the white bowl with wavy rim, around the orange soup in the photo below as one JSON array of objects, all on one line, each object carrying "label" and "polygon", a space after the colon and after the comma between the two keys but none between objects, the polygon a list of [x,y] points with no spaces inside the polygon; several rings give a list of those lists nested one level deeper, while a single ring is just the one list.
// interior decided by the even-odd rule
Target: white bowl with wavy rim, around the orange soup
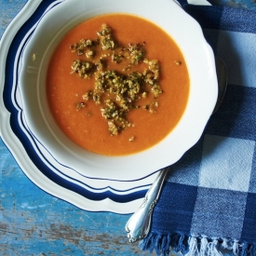
[{"label": "white bowl with wavy rim, around the orange soup", "polygon": [[[82,149],[56,125],[47,105],[46,74],[49,58],[64,34],[83,20],[116,12],[151,20],[171,35],[188,67],[190,95],[181,121],[165,140],[135,155],[104,156]],[[213,52],[199,24],[170,0],[66,0],[40,21],[24,50],[20,71],[24,112],[35,138],[62,165],[97,179],[139,180],[178,161],[199,140],[217,92]]]}]

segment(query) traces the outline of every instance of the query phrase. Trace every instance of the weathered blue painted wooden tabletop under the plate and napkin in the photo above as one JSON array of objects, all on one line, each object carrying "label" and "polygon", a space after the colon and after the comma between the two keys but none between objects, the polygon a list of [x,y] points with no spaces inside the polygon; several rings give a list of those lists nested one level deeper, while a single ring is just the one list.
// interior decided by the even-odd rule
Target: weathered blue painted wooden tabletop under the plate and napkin
[{"label": "weathered blue painted wooden tabletop under the plate and napkin", "polygon": [[[0,1],[0,35],[26,2]],[[256,8],[249,0],[211,3]],[[1,256],[152,255],[128,242],[125,225],[130,215],[90,212],[48,195],[24,175],[2,140],[0,184]]]}]

